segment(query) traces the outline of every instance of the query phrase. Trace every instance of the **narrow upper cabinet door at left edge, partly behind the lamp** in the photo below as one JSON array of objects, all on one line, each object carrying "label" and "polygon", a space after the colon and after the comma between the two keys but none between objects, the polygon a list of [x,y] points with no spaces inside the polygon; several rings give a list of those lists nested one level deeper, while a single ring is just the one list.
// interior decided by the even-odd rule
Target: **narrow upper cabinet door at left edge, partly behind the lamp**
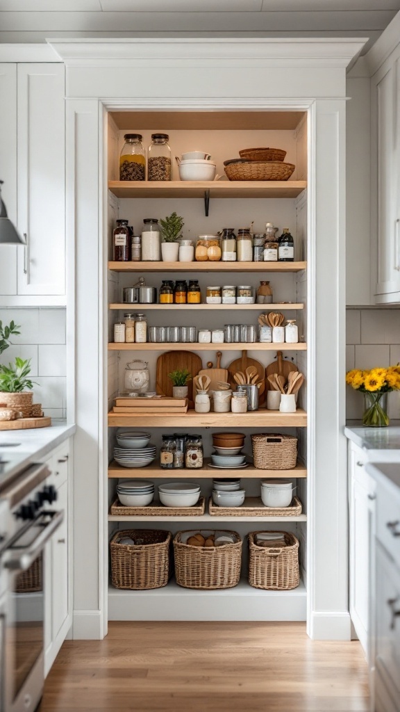
[{"label": "narrow upper cabinet door at left edge, partly behind the lamp", "polygon": [[[0,64],[0,96],[1,196],[16,224],[16,64]],[[16,254],[16,246],[0,245],[0,295],[16,294]]]}]

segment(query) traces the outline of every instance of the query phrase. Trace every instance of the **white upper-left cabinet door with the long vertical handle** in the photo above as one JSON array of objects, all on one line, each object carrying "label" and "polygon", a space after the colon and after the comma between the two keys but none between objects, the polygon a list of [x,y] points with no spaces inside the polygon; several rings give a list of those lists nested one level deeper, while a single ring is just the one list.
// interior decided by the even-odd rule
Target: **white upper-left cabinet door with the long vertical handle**
[{"label": "white upper-left cabinet door with the long vertical handle", "polygon": [[65,293],[65,69],[18,65],[19,295]]}]

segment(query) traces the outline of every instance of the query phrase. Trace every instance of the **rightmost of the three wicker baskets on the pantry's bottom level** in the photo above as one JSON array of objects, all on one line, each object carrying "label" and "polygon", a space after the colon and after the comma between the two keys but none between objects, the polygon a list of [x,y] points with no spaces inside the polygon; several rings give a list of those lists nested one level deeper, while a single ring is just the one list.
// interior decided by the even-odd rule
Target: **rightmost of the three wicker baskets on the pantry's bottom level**
[{"label": "rightmost of the three wicker baskets on the pantry's bottom level", "polygon": [[300,583],[299,543],[293,534],[285,535],[285,546],[276,548],[258,546],[256,535],[248,535],[248,582],[254,588],[269,591],[289,591]]}]

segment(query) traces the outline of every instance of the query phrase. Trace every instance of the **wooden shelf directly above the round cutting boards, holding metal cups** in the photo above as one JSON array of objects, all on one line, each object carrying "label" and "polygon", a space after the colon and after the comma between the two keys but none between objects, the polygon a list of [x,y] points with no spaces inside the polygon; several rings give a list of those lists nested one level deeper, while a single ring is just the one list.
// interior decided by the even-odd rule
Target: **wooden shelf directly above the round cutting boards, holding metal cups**
[{"label": "wooden shelf directly above the round cutting boards, holding metal cups", "polygon": [[223,344],[199,344],[196,342],[169,342],[164,341],[157,344],[151,342],[146,342],[144,344],[125,344],[125,343],[114,343],[111,342],[108,345],[109,351],[181,351],[181,350],[194,350],[194,351],[241,351],[243,349],[247,351],[306,351],[307,344],[304,342],[298,344],[273,344],[273,343],[260,343],[251,342],[246,343],[232,343],[228,344],[224,342]]}]

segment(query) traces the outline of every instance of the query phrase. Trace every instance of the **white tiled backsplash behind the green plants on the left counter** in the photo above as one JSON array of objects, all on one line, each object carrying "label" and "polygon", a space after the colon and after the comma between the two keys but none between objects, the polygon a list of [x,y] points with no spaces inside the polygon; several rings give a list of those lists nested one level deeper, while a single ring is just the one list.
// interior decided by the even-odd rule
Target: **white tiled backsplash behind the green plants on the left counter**
[{"label": "white tiled backsplash behind the green plants on the left counter", "polygon": [[66,417],[66,346],[65,309],[2,308],[0,320],[11,320],[21,326],[20,336],[12,336],[12,345],[0,357],[8,364],[16,356],[31,359],[33,402],[41,403],[44,414],[52,418]]}]

